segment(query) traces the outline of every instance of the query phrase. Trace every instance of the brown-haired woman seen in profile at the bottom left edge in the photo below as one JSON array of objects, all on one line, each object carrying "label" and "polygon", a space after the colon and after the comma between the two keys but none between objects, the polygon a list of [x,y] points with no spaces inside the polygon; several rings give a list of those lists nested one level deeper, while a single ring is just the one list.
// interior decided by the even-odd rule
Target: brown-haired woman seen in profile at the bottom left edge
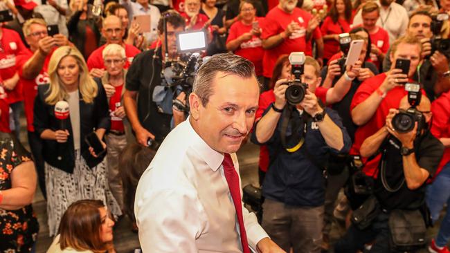
[{"label": "brown-haired woman seen in profile at the bottom left edge", "polygon": [[61,218],[60,234],[47,253],[105,253],[115,252],[114,221],[100,200],[78,200]]}]

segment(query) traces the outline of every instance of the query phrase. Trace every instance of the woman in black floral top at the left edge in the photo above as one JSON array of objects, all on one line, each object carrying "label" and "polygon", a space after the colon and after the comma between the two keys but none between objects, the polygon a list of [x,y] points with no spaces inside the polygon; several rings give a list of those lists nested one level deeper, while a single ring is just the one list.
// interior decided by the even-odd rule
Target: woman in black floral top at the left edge
[{"label": "woman in black floral top at the left edge", "polygon": [[0,153],[0,250],[31,252],[39,231],[31,207],[35,166],[31,154],[11,133],[0,131]]}]

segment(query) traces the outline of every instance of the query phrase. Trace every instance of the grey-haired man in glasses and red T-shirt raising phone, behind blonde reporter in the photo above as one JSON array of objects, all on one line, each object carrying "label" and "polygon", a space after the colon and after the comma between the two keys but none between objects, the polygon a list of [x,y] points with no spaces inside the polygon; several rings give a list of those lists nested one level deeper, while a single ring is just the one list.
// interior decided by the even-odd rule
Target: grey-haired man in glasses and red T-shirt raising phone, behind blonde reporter
[{"label": "grey-haired man in glasses and red T-shirt raising phone, behind blonde reporter", "polygon": [[48,36],[47,24],[44,19],[28,19],[22,29],[30,49],[21,50],[23,54],[17,57],[17,73],[23,87],[28,142],[35,160],[39,187],[46,197],[42,143],[33,127],[33,106],[37,95],[37,86],[50,82],[47,69],[53,51],[58,46],[68,45],[69,40],[61,34]]}]

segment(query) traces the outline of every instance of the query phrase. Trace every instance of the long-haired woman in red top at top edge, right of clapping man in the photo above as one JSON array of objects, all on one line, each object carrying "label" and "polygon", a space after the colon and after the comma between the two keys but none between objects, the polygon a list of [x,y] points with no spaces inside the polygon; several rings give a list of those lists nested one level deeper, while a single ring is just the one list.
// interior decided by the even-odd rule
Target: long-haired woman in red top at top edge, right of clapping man
[{"label": "long-haired woman in red top at top edge, right of clapping man", "polygon": [[339,52],[339,34],[350,31],[352,24],[352,2],[336,0],[323,21],[321,32],[325,43],[323,48],[323,64],[335,53]]}]

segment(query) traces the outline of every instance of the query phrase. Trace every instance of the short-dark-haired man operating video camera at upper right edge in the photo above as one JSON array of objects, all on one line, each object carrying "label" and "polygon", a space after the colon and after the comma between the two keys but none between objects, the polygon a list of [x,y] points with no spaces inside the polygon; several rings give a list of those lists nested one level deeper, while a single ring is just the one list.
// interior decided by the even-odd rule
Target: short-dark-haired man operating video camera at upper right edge
[{"label": "short-dark-haired man operating video camera at upper right edge", "polygon": [[[431,26],[433,24],[433,17],[427,11],[414,12],[408,23],[408,29],[406,34],[416,37],[422,43],[422,58],[424,61],[420,65],[419,71],[414,75],[413,79],[424,85],[426,96],[431,101],[442,92],[449,91],[450,89],[450,68],[448,55],[436,50],[431,52],[431,38],[433,32]],[[440,30],[438,28],[438,30]],[[437,34],[439,35],[439,34]],[[388,53],[390,53],[388,50]],[[388,71],[392,62],[389,57],[386,57],[383,62],[383,71]]]}]

